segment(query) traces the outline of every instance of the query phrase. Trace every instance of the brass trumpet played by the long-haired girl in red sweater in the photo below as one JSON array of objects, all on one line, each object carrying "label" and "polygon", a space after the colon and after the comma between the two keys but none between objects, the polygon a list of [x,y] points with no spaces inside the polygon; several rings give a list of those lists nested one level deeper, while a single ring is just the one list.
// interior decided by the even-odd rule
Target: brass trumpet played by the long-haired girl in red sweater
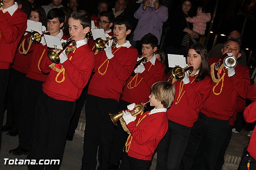
[{"label": "brass trumpet played by the long-haired girl in red sweater", "polygon": [[183,69],[182,67],[176,65],[172,69],[172,75],[169,77],[168,82],[172,82],[172,79],[175,79],[177,81],[181,81],[185,77],[185,72],[188,71],[188,73],[191,74],[193,69],[194,69],[193,66],[188,66],[188,67]]}]

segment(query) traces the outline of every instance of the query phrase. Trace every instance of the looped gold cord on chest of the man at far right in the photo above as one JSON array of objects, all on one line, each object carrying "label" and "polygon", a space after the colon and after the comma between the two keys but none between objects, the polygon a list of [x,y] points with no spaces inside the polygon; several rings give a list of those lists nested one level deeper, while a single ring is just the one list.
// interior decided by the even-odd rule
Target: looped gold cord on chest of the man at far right
[{"label": "looped gold cord on chest of the man at far right", "polygon": [[[222,87],[223,87],[223,84],[224,84],[224,76],[225,76],[226,72],[225,72],[225,70],[224,70],[224,64],[222,64],[218,70],[217,70],[216,68],[214,68],[214,65],[215,65],[215,63],[213,63],[213,64],[211,65],[211,77],[212,77],[212,81],[213,81],[214,83],[216,83],[216,85],[212,88],[212,91],[213,91],[214,95],[220,95],[220,93],[222,92]],[[218,72],[218,73],[217,73],[218,79],[216,79],[216,78],[215,78],[215,75],[214,75],[214,69],[215,69],[216,71],[219,71],[219,70],[222,70],[222,69],[223,69],[224,73],[223,73],[222,77],[220,77],[220,74],[219,74],[219,72]],[[215,88],[217,87],[217,85],[219,84],[220,81],[222,81],[222,84],[221,84],[221,87],[220,87],[220,92],[217,93],[217,92],[215,92]]]}]

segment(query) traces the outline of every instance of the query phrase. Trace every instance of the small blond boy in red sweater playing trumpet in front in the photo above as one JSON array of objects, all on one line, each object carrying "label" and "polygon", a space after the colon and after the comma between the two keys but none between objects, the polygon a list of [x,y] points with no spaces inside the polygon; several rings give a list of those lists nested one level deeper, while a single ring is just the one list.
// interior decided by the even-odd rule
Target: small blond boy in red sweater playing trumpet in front
[{"label": "small blond boy in red sweater playing trumpet in front", "polygon": [[[133,117],[130,112],[123,111],[123,119],[130,135],[125,144],[120,170],[149,170],[152,156],[168,130],[166,110],[174,101],[175,87],[172,83],[160,81],[150,89],[151,111]],[[134,109],[135,103],[127,106]]]}]

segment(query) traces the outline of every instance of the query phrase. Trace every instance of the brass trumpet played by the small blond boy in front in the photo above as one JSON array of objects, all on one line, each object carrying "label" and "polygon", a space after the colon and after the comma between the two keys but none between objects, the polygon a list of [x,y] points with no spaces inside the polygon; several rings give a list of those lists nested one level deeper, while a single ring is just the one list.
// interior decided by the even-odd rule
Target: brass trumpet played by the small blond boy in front
[{"label": "brass trumpet played by the small blond boy in front", "polygon": [[[135,117],[135,116],[137,116],[137,115],[140,115],[140,113],[141,113],[142,111],[144,111],[144,108],[146,107],[146,105],[147,105],[148,103],[149,103],[149,101],[146,102],[146,103],[136,104],[136,105],[135,105],[135,108],[134,108],[132,111],[130,111],[130,110],[128,110],[128,109],[126,109],[126,110],[124,110],[124,111],[130,111],[130,113],[132,114],[132,116]],[[139,111],[135,112],[136,109],[139,109]],[[114,125],[116,125],[116,126],[117,126],[117,122],[118,122],[119,120],[124,122],[124,119],[122,118],[122,116],[123,116],[123,112],[122,112],[122,111],[120,111],[120,112],[117,113],[117,114],[108,113],[108,115],[110,116],[111,121],[112,121],[112,122],[114,123]]]}]

